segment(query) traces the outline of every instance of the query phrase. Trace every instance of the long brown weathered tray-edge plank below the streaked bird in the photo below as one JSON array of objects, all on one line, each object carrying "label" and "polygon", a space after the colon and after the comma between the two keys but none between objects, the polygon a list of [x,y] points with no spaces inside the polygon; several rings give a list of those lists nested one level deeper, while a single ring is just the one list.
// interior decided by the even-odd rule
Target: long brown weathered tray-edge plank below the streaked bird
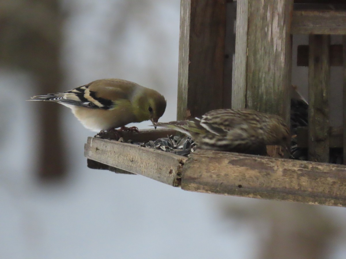
[{"label": "long brown weathered tray-edge plank below the streaked bird", "polygon": [[346,207],[346,167],[198,150],[184,165],[181,188]]}]

